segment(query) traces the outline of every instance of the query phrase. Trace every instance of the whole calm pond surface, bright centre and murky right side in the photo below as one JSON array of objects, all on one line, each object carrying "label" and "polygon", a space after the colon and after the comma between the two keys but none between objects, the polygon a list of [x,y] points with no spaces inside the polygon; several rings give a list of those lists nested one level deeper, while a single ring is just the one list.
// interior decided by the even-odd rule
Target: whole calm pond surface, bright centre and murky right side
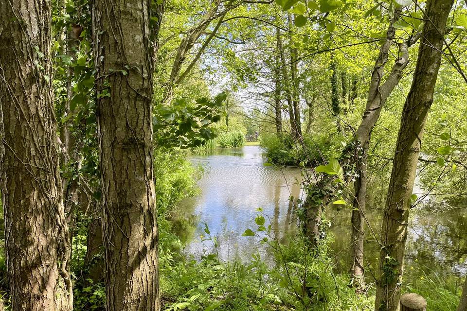
[{"label": "whole calm pond surface, bright centre and murky right side", "polygon": [[[219,254],[224,259],[240,256],[250,258],[259,252],[268,259],[268,251],[254,238],[242,237],[247,228],[255,228],[257,208],[262,207],[269,215],[270,222],[280,239],[293,237],[297,230],[295,205],[290,196],[301,197],[301,175],[298,169],[276,169],[264,166],[261,148],[245,146],[242,149],[218,149],[215,155],[190,156],[194,165],[204,169],[198,181],[200,194],[183,202],[179,219],[191,223],[192,230],[184,236],[186,253],[196,257],[212,250],[205,238],[204,224],[219,242]],[[407,274],[417,277],[420,269],[435,272],[441,279],[465,274],[467,268],[467,215],[466,208],[439,214],[429,211],[413,213],[407,241]],[[380,228],[379,208],[372,208],[367,217],[376,234]],[[326,210],[331,220],[335,241],[333,249],[337,269],[345,273],[348,269],[348,243],[350,232],[350,211],[332,208]],[[369,232],[370,230],[366,230]],[[377,268],[379,246],[368,234],[366,260],[368,273]],[[269,258],[270,259],[270,258]],[[271,259],[270,259],[271,260]],[[411,268],[413,267],[413,268]]]}]

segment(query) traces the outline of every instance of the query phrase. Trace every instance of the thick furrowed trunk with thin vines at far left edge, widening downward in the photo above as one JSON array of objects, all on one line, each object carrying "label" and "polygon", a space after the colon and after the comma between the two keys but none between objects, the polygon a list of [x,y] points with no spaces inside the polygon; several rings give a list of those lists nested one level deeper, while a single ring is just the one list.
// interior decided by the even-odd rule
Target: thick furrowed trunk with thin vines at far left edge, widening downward
[{"label": "thick furrowed trunk with thin vines at far left edge, widening downward", "polygon": [[0,166],[13,310],[72,310],[50,62],[51,7],[0,0]]}]

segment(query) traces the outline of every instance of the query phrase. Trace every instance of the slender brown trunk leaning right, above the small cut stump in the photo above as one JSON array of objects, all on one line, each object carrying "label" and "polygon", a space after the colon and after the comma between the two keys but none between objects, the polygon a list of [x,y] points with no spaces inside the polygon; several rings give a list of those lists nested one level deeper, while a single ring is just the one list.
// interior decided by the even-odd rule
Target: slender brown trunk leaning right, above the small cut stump
[{"label": "slender brown trunk leaning right, above the small cut stump", "polygon": [[396,311],[404,268],[407,222],[427,114],[441,64],[446,21],[454,0],[428,0],[412,87],[402,111],[381,229],[376,311]]}]

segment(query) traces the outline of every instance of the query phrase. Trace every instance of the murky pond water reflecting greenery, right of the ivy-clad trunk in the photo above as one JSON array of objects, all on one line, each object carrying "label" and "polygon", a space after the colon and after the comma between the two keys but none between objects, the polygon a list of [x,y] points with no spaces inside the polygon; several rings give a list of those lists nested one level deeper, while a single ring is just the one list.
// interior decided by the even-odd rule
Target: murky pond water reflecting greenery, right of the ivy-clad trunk
[{"label": "murky pond water reflecting greenery, right of the ivy-clad trunk", "polygon": [[[414,272],[405,274],[404,282],[409,282],[419,274],[435,273],[441,279],[449,276],[464,276],[467,270],[467,210],[457,209],[447,213],[417,210],[410,220],[406,251],[406,271],[411,267]],[[350,268],[348,249],[350,213],[348,210],[328,209],[334,234],[332,249],[336,255],[336,269],[345,273]],[[369,209],[367,218],[376,230],[380,229],[380,211]],[[374,281],[372,275],[378,267],[379,244],[366,230],[365,263],[366,277]]]}]

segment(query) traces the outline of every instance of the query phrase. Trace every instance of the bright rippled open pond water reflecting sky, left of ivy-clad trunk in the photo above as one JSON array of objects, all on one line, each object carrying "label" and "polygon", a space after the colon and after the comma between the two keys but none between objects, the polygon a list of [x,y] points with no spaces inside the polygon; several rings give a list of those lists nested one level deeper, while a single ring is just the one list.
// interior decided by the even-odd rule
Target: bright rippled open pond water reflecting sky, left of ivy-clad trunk
[{"label": "bright rippled open pond water reflecting sky, left of ivy-clad trunk", "polygon": [[198,215],[200,222],[196,238],[187,245],[187,252],[197,256],[203,254],[199,237],[206,235],[202,226],[206,223],[218,239],[223,258],[236,255],[249,258],[251,253],[258,251],[266,254],[255,239],[241,236],[245,229],[254,227],[258,207],[269,215],[281,240],[294,230],[294,205],[289,198],[300,196],[298,169],[264,166],[258,146],[218,149],[216,155],[191,156],[190,161],[201,165],[204,174],[198,182],[201,194],[184,201],[181,208]]}]

